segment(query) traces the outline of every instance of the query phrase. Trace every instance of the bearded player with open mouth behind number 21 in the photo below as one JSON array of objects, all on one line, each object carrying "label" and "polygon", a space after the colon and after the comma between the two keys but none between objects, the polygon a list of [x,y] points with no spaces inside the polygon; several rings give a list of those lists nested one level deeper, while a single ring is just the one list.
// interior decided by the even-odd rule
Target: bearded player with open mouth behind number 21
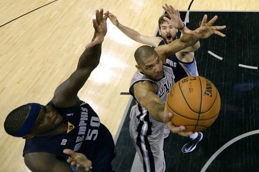
[{"label": "bearded player with open mouth behind number 21", "polygon": [[[118,29],[120,29],[131,39],[143,44],[157,47],[176,40],[178,30],[184,34],[184,31],[188,29],[181,20],[178,10],[175,10],[174,7],[168,6],[167,4],[165,4],[165,7],[163,8],[167,13],[162,15],[158,20],[158,32],[161,37],[144,36],[131,28],[123,26],[119,23],[116,16],[111,13],[109,14],[109,19],[115,26],[117,26]],[[198,41],[194,45],[186,47],[167,57],[166,64],[172,68],[175,74],[175,82],[178,82],[180,79],[187,76],[198,76],[194,51],[196,51],[199,47],[200,42]],[[169,133],[170,131],[167,127],[165,127],[164,138],[168,137]],[[202,137],[203,135],[201,132],[196,132],[191,135],[189,142],[183,146],[182,151],[184,153],[193,151]]]}]

